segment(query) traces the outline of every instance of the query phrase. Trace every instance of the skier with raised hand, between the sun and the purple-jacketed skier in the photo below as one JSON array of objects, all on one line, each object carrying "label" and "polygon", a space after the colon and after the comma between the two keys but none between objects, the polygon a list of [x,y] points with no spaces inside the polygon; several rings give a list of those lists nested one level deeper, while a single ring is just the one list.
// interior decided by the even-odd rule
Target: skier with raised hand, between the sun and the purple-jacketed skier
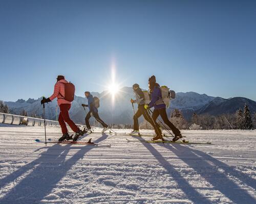
[{"label": "skier with raised hand, between the sun and the purple-jacketed skier", "polygon": [[134,90],[134,93],[135,93],[136,100],[131,99],[131,103],[132,104],[137,103],[138,104],[138,110],[135,113],[135,115],[133,116],[133,121],[134,121],[133,129],[134,129],[134,131],[131,132],[131,135],[140,135],[138,118],[141,115],[143,115],[145,120],[150,122],[152,124],[152,126],[154,127],[155,133],[156,133],[156,138],[159,138],[160,137],[159,135],[162,135],[162,132],[159,128],[159,125],[157,123],[153,122],[152,118],[150,117],[150,114],[148,114],[148,112],[144,109],[145,99],[144,99],[144,94],[143,94],[141,88],[139,87],[138,84],[134,84],[133,85],[133,90]]}]

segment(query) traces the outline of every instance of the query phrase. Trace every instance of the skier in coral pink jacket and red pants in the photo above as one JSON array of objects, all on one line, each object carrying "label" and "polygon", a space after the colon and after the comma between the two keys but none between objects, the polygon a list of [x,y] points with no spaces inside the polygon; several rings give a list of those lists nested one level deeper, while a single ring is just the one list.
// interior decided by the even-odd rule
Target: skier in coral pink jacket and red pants
[{"label": "skier in coral pink jacket and red pants", "polygon": [[65,99],[65,84],[67,83],[68,81],[65,80],[65,77],[63,75],[58,75],[57,83],[54,86],[54,93],[49,98],[43,97],[41,100],[41,104],[44,104],[52,101],[56,97],[58,98],[57,102],[60,109],[58,120],[63,134],[62,137],[59,138],[59,141],[72,139],[72,136],[70,136],[68,133],[65,122],[67,122],[71,127],[72,131],[75,132],[75,137],[79,137],[84,134],[83,131],[81,131],[79,127],[69,117],[71,102]]}]

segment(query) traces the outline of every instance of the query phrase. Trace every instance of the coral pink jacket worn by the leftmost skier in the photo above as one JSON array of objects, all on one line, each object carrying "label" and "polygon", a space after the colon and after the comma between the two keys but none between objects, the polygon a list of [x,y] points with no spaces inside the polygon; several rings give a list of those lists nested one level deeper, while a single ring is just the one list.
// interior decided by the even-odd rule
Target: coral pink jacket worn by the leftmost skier
[{"label": "coral pink jacket worn by the leftmost skier", "polygon": [[66,80],[59,80],[55,86],[54,86],[54,92],[53,94],[50,96],[50,100],[53,100],[54,98],[58,98],[58,106],[60,106],[61,104],[71,104],[70,101],[65,100],[65,85],[68,83],[68,81]]}]

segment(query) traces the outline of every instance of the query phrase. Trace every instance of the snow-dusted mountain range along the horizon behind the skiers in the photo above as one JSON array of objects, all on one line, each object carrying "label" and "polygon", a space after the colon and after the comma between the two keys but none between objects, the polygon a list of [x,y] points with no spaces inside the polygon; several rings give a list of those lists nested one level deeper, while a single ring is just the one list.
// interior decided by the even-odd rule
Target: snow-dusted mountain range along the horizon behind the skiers
[{"label": "snow-dusted mountain range along the horizon behind the skiers", "polygon": [[[130,102],[134,98],[133,89],[131,87],[123,87],[118,94],[113,95],[108,91],[101,93],[92,92],[92,95],[100,98],[100,117],[106,123],[115,124],[132,124],[133,123],[133,108]],[[9,107],[10,113],[20,114],[25,110],[29,115],[42,115],[41,98],[28,100],[18,99],[16,102],[5,101]],[[87,104],[87,99],[80,96],[75,96],[70,109],[70,117],[76,123],[84,123],[84,118],[88,109],[84,110],[81,104]],[[167,109],[170,115],[174,109],[179,109],[183,116],[190,120],[193,113],[220,115],[226,113],[234,113],[239,108],[247,104],[251,113],[256,112],[256,102],[244,97],[233,97],[229,99],[221,97],[208,96],[196,92],[179,92],[176,93],[176,98],[170,101],[170,106]],[[56,120],[57,100],[54,99],[51,103],[46,104],[46,119]],[[136,109],[137,105],[135,105]],[[58,113],[59,113],[59,109]],[[136,111],[136,110],[135,110]],[[142,120],[142,118],[141,118]]]}]

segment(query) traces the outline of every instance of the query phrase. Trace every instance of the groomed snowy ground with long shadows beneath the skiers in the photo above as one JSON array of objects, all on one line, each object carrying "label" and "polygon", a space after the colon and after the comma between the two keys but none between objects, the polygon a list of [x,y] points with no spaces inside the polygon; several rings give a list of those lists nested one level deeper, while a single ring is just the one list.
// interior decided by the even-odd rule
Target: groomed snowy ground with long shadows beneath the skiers
[{"label": "groomed snowy ground with long shadows beneath the skiers", "polygon": [[1,126],[0,203],[256,203],[256,131],[182,131],[213,145],[95,133],[82,141],[112,146],[45,146],[44,127]]}]

